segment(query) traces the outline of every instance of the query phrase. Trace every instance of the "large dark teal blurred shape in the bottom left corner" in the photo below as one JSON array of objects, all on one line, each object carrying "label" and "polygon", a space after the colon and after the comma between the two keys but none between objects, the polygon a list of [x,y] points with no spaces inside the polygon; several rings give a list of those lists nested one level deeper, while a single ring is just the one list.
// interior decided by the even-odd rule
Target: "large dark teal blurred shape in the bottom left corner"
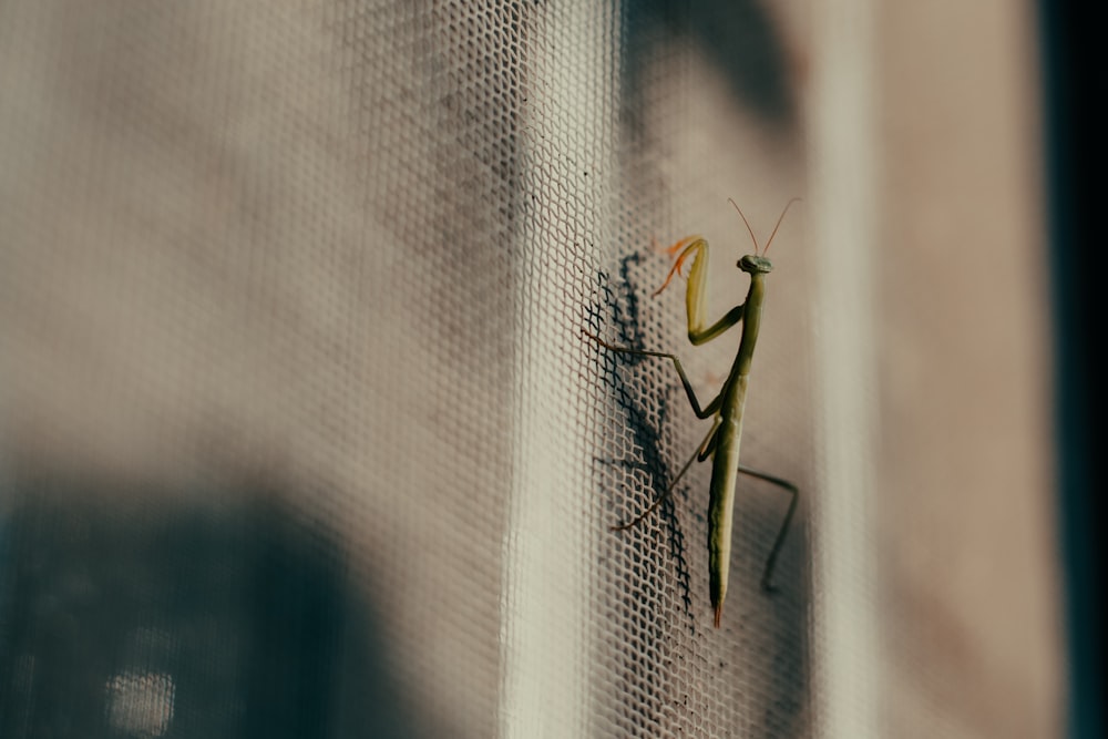
[{"label": "large dark teal blurred shape in the bottom left corner", "polygon": [[336,537],[276,496],[6,492],[6,739],[411,733]]}]

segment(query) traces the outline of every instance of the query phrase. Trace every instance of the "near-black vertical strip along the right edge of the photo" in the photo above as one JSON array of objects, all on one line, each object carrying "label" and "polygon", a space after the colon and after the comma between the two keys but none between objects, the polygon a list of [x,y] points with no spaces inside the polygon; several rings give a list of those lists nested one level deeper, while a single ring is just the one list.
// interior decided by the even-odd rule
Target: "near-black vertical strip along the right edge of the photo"
[{"label": "near-black vertical strip along the right edge of the photo", "polygon": [[1104,737],[1108,640],[1104,458],[1108,361],[1104,350],[1104,99],[1108,75],[1097,6],[1038,3],[1051,242],[1058,483],[1066,567],[1069,736]]}]

